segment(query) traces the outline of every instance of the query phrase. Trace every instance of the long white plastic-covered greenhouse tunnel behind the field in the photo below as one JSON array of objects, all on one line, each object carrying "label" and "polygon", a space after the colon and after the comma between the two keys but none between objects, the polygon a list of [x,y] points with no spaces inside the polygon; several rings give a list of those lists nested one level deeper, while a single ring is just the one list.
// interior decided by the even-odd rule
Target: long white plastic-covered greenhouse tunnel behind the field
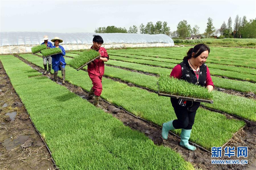
[{"label": "long white plastic-covered greenhouse tunnel behind the field", "polygon": [[48,41],[54,37],[63,39],[63,43],[60,43],[60,45],[65,50],[89,49],[92,45],[93,35],[101,35],[105,48],[166,47],[174,45],[171,37],[165,34],[1,32],[0,54],[31,52],[33,46],[44,42],[44,35],[48,35]]}]

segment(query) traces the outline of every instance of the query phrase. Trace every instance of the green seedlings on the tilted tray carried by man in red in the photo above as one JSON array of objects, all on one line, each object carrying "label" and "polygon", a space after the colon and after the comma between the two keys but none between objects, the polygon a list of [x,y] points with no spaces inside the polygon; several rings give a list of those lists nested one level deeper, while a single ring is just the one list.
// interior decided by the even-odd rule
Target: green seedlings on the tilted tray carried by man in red
[{"label": "green seedlings on the tilted tray carried by man in red", "polygon": [[100,53],[93,50],[89,49],[84,51],[82,54],[74,58],[69,65],[75,69],[80,68],[81,66],[85,65],[89,61],[93,60],[94,58],[100,56]]}]

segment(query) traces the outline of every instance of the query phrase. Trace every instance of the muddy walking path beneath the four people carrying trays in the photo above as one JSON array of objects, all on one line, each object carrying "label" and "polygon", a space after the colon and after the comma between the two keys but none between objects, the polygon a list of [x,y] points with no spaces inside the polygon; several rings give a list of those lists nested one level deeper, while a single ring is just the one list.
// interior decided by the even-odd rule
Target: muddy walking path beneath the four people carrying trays
[{"label": "muddy walking path beneath the four people carrying trays", "polygon": [[[20,57],[19,57],[20,58]],[[40,67],[35,66],[34,64],[20,58],[25,63],[29,64],[31,67],[36,68],[39,72],[43,72]],[[47,76],[49,79],[53,80],[53,75],[44,75]],[[62,86],[65,86],[71,92],[77,94],[78,96],[82,97],[85,100],[93,103],[93,99],[88,99],[88,92],[83,90],[81,87],[74,86],[70,83],[62,84],[60,83],[62,80],[58,78],[58,83]],[[253,166],[253,163],[256,159],[256,127],[247,127],[245,126],[239,132],[234,134],[234,136],[225,144],[225,146],[247,146],[248,147],[248,165],[214,165],[211,164],[211,153],[206,152],[202,149],[197,148],[196,151],[192,152],[187,150],[181,146],[179,146],[179,137],[177,135],[171,135],[169,133],[168,139],[163,140],[161,137],[161,127],[154,125],[148,121],[143,121],[140,117],[132,116],[132,114],[128,113],[127,111],[106,102],[102,98],[100,99],[101,109],[109,114],[112,114],[113,117],[116,117],[120,121],[123,122],[124,125],[129,126],[130,128],[140,131],[148,136],[156,145],[163,145],[165,147],[169,147],[174,149],[176,152],[180,153],[186,161],[192,163],[192,165],[196,169],[234,169],[234,170],[241,170],[247,169],[249,166]],[[233,118],[230,116],[230,118]],[[243,158],[228,158],[222,157],[219,159],[243,159]]]}]

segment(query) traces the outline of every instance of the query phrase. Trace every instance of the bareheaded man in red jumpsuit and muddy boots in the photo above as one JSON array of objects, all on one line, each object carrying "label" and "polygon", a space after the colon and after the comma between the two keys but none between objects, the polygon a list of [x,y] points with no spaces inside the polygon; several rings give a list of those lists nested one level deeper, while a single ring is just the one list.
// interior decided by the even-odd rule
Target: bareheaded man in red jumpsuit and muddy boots
[{"label": "bareheaded man in red jumpsuit and muddy boots", "polygon": [[107,50],[101,47],[103,39],[100,35],[93,35],[93,46],[91,49],[98,51],[101,57],[94,60],[88,65],[88,75],[93,82],[93,87],[90,90],[88,99],[94,98],[94,106],[100,107],[99,99],[102,92],[102,76],[104,74],[104,62],[109,59]]}]

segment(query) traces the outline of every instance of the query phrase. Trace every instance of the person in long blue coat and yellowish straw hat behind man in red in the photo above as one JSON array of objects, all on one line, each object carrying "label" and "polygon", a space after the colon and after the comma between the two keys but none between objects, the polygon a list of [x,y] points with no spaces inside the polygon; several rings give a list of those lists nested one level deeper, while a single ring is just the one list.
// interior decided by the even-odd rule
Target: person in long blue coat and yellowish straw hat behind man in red
[{"label": "person in long blue coat and yellowish straw hat behind man in red", "polygon": [[51,40],[52,42],[54,42],[54,46],[52,48],[60,48],[62,53],[61,54],[55,54],[52,55],[52,69],[54,70],[54,81],[57,82],[57,77],[58,77],[58,71],[61,70],[61,74],[62,74],[62,84],[65,84],[65,59],[64,59],[64,55],[65,53],[65,49],[59,45],[59,43],[62,43],[63,40],[60,39],[59,37],[54,37],[54,39]]}]

